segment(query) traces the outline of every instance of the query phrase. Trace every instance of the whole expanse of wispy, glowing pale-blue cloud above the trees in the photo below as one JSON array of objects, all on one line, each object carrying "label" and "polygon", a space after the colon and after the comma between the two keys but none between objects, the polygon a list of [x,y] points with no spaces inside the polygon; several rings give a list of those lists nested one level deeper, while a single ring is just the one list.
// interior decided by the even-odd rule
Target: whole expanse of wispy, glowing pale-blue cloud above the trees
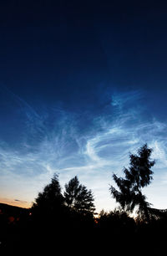
[{"label": "whole expanse of wispy, glowing pale-blue cloud above the trees", "polygon": [[[14,98],[25,103],[16,95]],[[154,149],[156,164],[153,185],[146,192],[155,207],[162,207],[164,201],[154,197],[154,187],[160,186],[166,192],[166,125],[155,117],[148,121],[140,103],[143,98],[144,93],[139,91],[115,93],[110,103],[112,115],[94,118],[86,131],[78,128],[81,117],[77,114],[55,108],[50,120],[49,113],[39,115],[25,103],[22,110],[27,133],[23,140],[17,148],[10,148],[5,141],[0,144],[3,197],[17,198],[21,193],[25,197],[22,201],[33,202],[57,172],[62,185],[78,175],[93,190],[98,211],[103,207],[112,209],[115,207],[109,195],[109,183],[114,184],[112,173],[122,176],[123,167],[129,165],[129,152],[136,152],[148,143]]]}]

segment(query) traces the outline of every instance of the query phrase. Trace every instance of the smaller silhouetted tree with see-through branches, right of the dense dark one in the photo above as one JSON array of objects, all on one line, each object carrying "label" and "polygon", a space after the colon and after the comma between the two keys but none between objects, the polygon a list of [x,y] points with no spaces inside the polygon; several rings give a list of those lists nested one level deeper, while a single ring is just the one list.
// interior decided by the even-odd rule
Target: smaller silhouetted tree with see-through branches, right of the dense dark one
[{"label": "smaller silhouetted tree with see-through branches, right of the dense dark one", "polygon": [[79,183],[78,177],[73,177],[65,184],[65,202],[72,210],[88,214],[94,213],[94,196],[91,190]]}]

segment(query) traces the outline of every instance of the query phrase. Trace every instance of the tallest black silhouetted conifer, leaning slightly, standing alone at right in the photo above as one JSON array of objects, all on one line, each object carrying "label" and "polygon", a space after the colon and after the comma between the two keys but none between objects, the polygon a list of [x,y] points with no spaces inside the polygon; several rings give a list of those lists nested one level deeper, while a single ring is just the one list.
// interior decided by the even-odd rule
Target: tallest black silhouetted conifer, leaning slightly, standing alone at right
[{"label": "tallest black silhouetted conifer, leaning slightly, standing alone at right", "polygon": [[137,213],[141,218],[146,219],[149,219],[150,204],[146,202],[141,190],[153,179],[153,172],[150,170],[154,166],[154,161],[150,160],[151,152],[152,149],[144,144],[139,148],[138,155],[130,154],[129,169],[124,168],[125,178],[113,175],[119,191],[113,186],[109,188],[112,196],[124,210],[133,212],[134,207],[138,207]]}]

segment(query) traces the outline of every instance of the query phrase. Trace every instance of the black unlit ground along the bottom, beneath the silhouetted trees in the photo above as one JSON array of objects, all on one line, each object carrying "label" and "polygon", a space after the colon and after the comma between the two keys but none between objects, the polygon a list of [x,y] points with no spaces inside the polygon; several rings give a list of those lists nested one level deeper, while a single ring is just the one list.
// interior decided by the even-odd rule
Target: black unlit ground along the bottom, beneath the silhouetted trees
[{"label": "black unlit ground along the bottom, beneath the silhouetted trees", "polygon": [[35,222],[29,209],[0,204],[1,255],[164,255],[167,224]]}]

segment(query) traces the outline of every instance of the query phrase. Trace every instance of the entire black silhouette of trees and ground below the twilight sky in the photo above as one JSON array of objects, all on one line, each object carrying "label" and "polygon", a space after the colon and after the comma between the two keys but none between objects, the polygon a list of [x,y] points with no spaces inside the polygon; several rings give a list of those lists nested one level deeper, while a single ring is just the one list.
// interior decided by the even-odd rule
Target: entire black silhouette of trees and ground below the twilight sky
[{"label": "entire black silhouette of trees and ground below the twilight sky", "polygon": [[[62,192],[56,174],[43,192],[38,193],[30,209],[15,213],[11,219],[2,209],[3,255],[16,255],[25,249],[32,255],[40,255],[44,250],[47,255],[48,251],[53,254],[67,250],[94,254],[99,249],[134,254],[133,248],[141,253],[146,248],[149,253],[157,250],[159,254],[167,236],[167,211],[152,208],[142,191],[153,179],[151,152],[147,145],[142,146],[136,155],[129,155],[124,177],[113,175],[119,189],[109,187],[111,196],[119,202],[114,211],[95,214],[93,192],[78,177],[65,184]],[[135,218],[131,215],[134,210]]]}]

